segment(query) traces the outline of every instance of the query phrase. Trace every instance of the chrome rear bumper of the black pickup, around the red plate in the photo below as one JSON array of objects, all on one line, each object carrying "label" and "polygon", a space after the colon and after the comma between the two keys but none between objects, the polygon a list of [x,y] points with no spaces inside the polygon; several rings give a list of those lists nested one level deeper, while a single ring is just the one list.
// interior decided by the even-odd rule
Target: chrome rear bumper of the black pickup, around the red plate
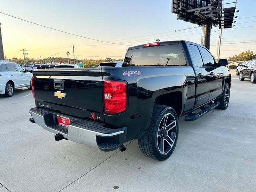
[{"label": "chrome rear bumper of the black pickup, around the red plate", "polygon": [[[96,122],[77,119],[40,108],[32,108],[29,112],[32,116],[30,121],[35,122],[45,130],[54,134],[61,134],[64,138],[77,143],[98,147],[102,151],[117,149],[126,138],[126,127],[106,128]],[[58,125],[57,115],[70,119],[68,127]]]}]

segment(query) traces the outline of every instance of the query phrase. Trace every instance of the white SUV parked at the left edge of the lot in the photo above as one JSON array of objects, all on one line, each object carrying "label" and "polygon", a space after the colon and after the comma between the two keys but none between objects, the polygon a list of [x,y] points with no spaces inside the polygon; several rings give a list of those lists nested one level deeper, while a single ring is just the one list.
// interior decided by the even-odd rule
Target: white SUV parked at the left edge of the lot
[{"label": "white SUV parked at the left edge of the lot", "polygon": [[32,73],[18,64],[0,60],[0,94],[11,97],[16,88],[27,87],[31,90],[32,76]]}]

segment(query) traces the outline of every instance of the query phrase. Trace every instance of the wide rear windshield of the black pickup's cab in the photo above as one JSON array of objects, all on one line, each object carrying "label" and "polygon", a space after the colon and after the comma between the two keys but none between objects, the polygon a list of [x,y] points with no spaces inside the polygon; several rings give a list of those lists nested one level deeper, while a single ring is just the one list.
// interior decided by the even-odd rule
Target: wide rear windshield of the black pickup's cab
[{"label": "wide rear windshield of the black pickup's cab", "polygon": [[187,66],[179,44],[129,50],[123,65],[128,66]]}]

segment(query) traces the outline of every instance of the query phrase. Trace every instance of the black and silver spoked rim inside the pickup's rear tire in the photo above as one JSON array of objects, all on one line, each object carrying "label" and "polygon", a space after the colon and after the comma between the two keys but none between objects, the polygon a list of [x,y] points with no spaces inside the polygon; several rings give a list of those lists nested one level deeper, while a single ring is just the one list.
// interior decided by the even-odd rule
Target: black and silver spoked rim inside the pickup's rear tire
[{"label": "black and silver spoked rim inside the pickup's rear tire", "polygon": [[162,118],[157,132],[157,145],[161,154],[167,154],[175,142],[176,120],[171,113],[167,113]]}]

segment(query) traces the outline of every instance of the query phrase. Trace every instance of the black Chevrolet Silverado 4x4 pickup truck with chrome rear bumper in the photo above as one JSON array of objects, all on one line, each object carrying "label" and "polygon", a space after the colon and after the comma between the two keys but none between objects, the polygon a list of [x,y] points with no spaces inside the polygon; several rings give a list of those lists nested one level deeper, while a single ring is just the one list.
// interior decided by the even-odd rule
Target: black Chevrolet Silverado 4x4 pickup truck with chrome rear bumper
[{"label": "black Chevrolet Silverado 4x4 pickup truck with chrome rear bumper", "polygon": [[34,70],[30,122],[56,141],[102,151],[123,151],[138,139],[142,153],[165,160],[176,146],[180,116],[192,121],[228,107],[227,64],[202,45],[168,41],[130,47],[122,67]]}]

